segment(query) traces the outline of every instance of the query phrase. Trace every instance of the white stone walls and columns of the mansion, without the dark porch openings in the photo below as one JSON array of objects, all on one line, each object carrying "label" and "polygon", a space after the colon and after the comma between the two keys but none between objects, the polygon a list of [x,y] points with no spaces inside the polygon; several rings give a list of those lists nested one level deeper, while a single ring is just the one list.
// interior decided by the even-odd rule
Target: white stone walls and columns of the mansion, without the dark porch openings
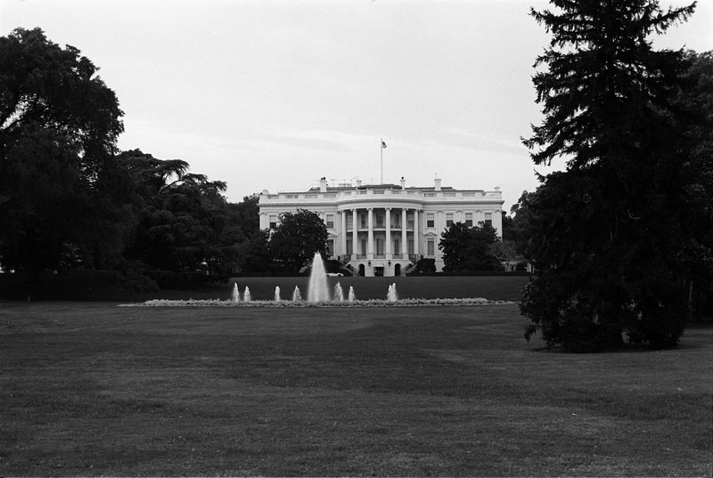
[{"label": "white stone walls and columns of the mansion, without the dark porch openings", "polygon": [[[326,183],[320,182],[319,189],[304,192],[281,192],[270,194],[264,191],[259,199],[260,228],[267,229],[270,226],[270,217],[276,217],[286,212],[297,212],[299,208],[307,209],[322,217],[326,222],[327,215],[333,215],[333,227],[328,228],[329,239],[334,241],[334,256],[346,255],[347,241],[354,240],[352,231],[352,212],[357,211],[357,215],[368,215],[372,210],[372,228],[362,228],[361,218],[357,216],[357,243],[352,244],[351,263],[358,269],[359,265],[364,265],[365,274],[374,275],[383,271],[385,275],[393,275],[397,264],[403,271],[410,263],[408,258],[408,242],[403,236],[403,213],[406,209],[407,215],[417,215],[414,221],[414,229],[408,229],[407,236],[413,237],[414,254],[436,259],[437,270],[443,267],[443,260],[438,250],[438,240],[440,234],[447,227],[447,218],[453,216],[454,223],[464,222],[466,214],[472,214],[473,225],[486,220],[486,215],[492,217],[493,227],[502,237],[502,206],[503,199],[500,190],[452,190],[440,188],[406,188],[402,189],[393,185],[368,185],[353,188],[330,189]],[[394,216],[391,223],[398,224],[399,227],[390,228],[387,233],[385,227],[376,228],[377,214],[386,214],[386,210]],[[347,215],[346,224],[342,220],[342,215]],[[428,227],[429,215],[434,216],[434,227]],[[397,217],[398,216],[398,217]],[[388,221],[388,219],[386,220]],[[389,225],[391,224],[389,223]],[[346,225],[346,229],[345,229]],[[379,224],[381,225],[381,224]],[[384,223],[385,226],[385,223]],[[362,254],[360,243],[367,238],[368,250]],[[368,237],[373,240],[369,241]],[[399,246],[406,249],[403,251],[393,250],[393,247],[386,245],[386,238],[389,237],[389,245],[393,244],[395,237],[401,237]],[[377,239],[385,241],[384,250],[377,251]],[[429,254],[429,240],[433,240],[433,255]],[[389,251],[389,248],[391,249]],[[383,254],[377,254],[383,252]]]}]

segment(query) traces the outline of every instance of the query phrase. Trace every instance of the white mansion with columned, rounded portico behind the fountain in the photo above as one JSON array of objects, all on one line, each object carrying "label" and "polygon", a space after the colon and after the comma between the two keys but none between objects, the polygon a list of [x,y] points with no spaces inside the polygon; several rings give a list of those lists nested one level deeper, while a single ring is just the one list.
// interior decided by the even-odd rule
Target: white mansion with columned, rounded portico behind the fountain
[{"label": "white mansion with columned, rounded portico behind the fountain", "polygon": [[[307,209],[320,215],[327,226],[327,245],[333,259],[340,260],[355,275],[402,275],[422,257],[436,260],[443,268],[438,249],[440,234],[451,223],[491,223],[502,237],[499,188],[492,191],[369,184],[356,181],[329,186],[325,178],[302,192],[270,194],[259,198],[260,229],[273,229],[281,213]],[[349,267],[350,266],[350,267]]]}]

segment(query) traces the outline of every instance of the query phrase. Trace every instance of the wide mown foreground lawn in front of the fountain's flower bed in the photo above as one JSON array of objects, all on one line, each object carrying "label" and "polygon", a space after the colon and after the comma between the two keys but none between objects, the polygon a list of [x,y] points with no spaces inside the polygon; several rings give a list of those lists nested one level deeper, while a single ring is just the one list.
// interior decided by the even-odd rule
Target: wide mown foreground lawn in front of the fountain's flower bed
[{"label": "wide mown foreground lawn in front of the fountain's flower bed", "polygon": [[713,328],[573,355],[523,323],[0,303],[0,475],[710,476]]}]

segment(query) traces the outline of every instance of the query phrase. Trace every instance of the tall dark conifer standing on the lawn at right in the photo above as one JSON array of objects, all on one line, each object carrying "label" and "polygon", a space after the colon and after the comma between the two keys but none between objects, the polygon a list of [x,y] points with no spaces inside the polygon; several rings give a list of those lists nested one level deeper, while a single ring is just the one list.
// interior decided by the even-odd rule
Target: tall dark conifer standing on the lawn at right
[{"label": "tall dark conifer standing on the lawn at right", "polygon": [[520,310],[549,345],[597,350],[676,344],[683,332],[680,192],[684,161],[673,98],[682,52],[648,37],[693,13],[654,0],[553,0],[532,11],[553,37],[533,78],[545,119],[533,161],[566,158],[529,198],[538,277]]}]

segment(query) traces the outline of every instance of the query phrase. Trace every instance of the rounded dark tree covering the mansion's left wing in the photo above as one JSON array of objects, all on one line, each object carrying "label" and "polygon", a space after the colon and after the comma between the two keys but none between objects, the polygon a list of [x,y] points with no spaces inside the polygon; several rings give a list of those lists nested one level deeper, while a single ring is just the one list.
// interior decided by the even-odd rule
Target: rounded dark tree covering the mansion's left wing
[{"label": "rounded dark tree covering the mansion's left wing", "polygon": [[270,254],[275,265],[298,274],[311,263],[315,253],[327,255],[327,226],[316,213],[298,209],[296,213],[283,213],[270,237]]}]

